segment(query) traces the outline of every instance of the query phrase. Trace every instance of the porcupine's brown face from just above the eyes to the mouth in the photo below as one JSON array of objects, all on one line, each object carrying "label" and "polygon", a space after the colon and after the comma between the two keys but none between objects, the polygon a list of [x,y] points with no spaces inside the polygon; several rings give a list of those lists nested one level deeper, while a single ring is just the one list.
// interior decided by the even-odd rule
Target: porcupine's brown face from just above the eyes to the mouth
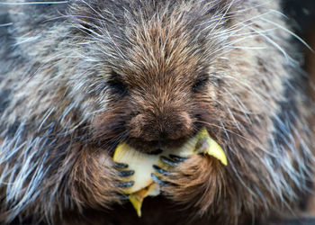
[{"label": "porcupine's brown face from just above the eyes to the mouth", "polygon": [[112,107],[126,113],[123,127],[130,145],[140,150],[178,146],[200,129],[196,113],[202,110],[195,98],[207,94],[209,75],[198,71],[194,63],[152,65],[143,71],[112,75],[108,82],[115,101]]}]

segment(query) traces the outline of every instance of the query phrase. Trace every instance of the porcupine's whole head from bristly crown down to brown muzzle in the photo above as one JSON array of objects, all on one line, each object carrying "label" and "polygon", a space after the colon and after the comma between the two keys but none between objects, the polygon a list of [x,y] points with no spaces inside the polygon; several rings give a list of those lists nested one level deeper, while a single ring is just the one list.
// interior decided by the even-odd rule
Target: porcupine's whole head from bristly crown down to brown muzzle
[{"label": "porcupine's whole head from bristly crown down to brown muzzle", "polygon": [[[148,2],[143,12],[132,11],[132,5],[130,11],[115,12],[123,27],[106,23],[109,35],[115,35],[105,47],[112,52],[105,59],[108,101],[97,116],[95,139],[105,143],[114,137],[115,144],[125,139],[141,151],[178,147],[216,120],[218,78],[210,67],[224,38],[213,38],[210,30],[228,29],[228,19],[221,18],[228,6]],[[204,23],[205,18],[213,21]],[[92,33],[103,29],[89,25],[83,23]]]}]

